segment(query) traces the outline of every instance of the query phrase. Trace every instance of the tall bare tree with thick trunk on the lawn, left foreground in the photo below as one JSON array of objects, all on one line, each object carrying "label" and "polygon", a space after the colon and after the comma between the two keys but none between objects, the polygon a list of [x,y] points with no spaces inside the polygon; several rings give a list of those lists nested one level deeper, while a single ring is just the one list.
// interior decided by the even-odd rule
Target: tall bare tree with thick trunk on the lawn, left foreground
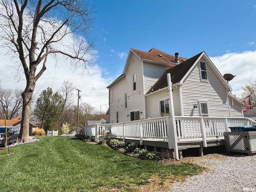
[{"label": "tall bare tree with thick trunk on the lawn, left foreground", "polygon": [[88,72],[95,46],[88,40],[92,8],[86,0],[0,0],[0,46],[12,61],[19,59],[17,75],[23,69],[26,77],[20,141],[29,140],[32,95],[48,56],[65,56],[73,70]]}]

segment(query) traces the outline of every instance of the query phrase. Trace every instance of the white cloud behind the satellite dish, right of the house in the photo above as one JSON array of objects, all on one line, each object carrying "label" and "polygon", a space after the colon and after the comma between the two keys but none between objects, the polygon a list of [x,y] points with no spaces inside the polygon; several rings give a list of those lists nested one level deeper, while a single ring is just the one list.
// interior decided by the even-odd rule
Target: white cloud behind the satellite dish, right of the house
[{"label": "white cloud behind the satellite dish, right of the house", "polygon": [[249,80],[256,80],[256,50],[242,53],[227,53],[218,57],[210,57],[216,68],[222,75],[230,73],[235,75],[229,84],[232,93],[237,96],[242,93],[242,86],[248,84]]}]

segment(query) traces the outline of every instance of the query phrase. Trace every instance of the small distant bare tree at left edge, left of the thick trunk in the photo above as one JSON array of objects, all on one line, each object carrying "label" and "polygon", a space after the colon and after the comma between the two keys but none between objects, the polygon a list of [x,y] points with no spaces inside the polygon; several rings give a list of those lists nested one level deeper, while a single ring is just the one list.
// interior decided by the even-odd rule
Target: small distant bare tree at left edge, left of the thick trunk
[{"label": "small distant bare tree at left edge, left of the thick trunk", "polygon": [[12,119],[21,114],[22,90],[0,89],[0,111],[6,114],[6,119]]}]

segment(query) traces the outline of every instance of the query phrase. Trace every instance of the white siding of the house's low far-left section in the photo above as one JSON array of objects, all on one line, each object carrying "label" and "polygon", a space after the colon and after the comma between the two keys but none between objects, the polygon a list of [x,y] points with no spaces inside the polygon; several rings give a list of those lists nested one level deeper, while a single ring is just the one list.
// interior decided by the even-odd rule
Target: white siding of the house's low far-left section
[{"label": "white siding of the house's low far-left section", "polygon": [[[126,92],[125,77],[110,87],[110,108],[109,108],[110,123],[116,122],[117,111],[118,111],[118,122],[126,121],[127,112],[126,112],[126,109],[124,108],[125,92]],[[118,100],[119,100],[119,103],[118,103]]]}]

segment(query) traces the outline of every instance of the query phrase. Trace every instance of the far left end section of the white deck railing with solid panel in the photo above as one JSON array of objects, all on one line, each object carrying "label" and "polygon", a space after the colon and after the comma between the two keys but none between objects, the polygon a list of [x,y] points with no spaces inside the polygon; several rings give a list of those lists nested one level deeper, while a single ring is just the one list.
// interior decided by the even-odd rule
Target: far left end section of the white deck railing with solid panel
[{"label": "far left end section of the white deck railing with solid panel", "polygon": [[109,132],[111,128],[111,124],[95,124],[95,125],[88,125],[85,128],[85,135],[92,138],[92,136],[95,136],[98,138],[101,136],[101,133],[103,131]]}]

